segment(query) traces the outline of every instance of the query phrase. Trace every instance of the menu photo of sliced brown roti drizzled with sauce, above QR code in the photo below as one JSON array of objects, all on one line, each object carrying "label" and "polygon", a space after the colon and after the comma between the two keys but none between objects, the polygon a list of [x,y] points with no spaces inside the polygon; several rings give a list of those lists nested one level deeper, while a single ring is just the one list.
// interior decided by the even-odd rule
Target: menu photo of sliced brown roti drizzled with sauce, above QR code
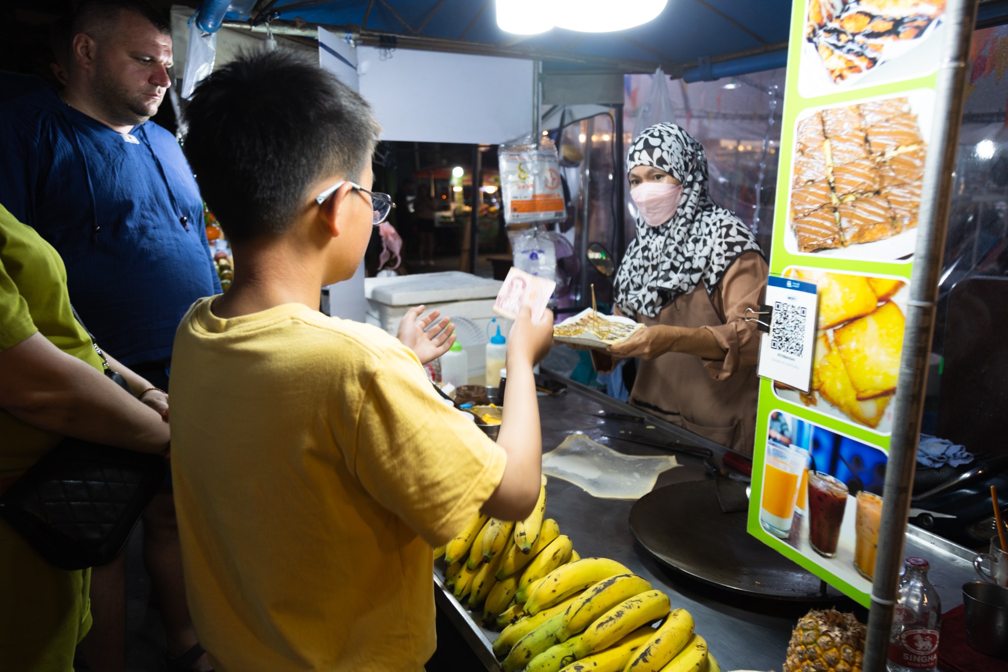
[{"label": "menu photo of sliced brown roti drizzled with sauce, above QR code", "polygon": [[929,92],[911,92],[798,119],[788,252],[872,261],[912,257],[930,100]]}]

